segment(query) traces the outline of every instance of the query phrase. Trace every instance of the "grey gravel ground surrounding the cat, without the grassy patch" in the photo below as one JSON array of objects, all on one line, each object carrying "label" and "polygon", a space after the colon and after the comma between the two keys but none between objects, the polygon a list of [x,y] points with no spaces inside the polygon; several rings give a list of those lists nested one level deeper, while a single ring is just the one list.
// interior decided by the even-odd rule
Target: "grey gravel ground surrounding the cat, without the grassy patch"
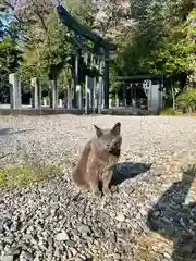
[{"label": "grey gravel ground surrounding the cat, without the grassy patch", "polygon": [[[110,198],[70,178],[93,124],[122,124]],[[3,192],[0,260],[196,261],[196,120],[169,116],[1,116],[0,164],[10,156],[59,161],[63,176]],[[181,166],[186,165],[186,170]]]}]

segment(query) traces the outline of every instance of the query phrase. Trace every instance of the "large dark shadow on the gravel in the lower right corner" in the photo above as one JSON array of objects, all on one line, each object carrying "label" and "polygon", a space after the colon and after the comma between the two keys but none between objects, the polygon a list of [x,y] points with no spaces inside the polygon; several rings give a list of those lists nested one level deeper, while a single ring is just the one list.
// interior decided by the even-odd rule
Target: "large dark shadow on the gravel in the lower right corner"
[{"label": "large dark shadow on the gravel in the lower right corner", "polygon": [[196,260],[196,202],[185,204],[195,177],[196,166],[188,166],[148,213],[150,229],[173,241],[174,261]]}]

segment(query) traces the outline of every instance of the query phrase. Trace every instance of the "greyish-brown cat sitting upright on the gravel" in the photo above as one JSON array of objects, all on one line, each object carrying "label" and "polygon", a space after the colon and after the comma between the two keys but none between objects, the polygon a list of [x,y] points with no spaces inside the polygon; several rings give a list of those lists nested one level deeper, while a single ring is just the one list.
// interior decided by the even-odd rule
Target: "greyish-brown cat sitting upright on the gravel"
[{"label": "greyish-brown cat sitting upright on the gravel", "polygon": [[99,182],[102,182],[102,192],[110,194],[113,167],[121,152],[121,123],[117,123],[112,129],[94,127],[97,135],[86,144],[72,177],[78,186],[88,187],[94,196],[100,197]]}]

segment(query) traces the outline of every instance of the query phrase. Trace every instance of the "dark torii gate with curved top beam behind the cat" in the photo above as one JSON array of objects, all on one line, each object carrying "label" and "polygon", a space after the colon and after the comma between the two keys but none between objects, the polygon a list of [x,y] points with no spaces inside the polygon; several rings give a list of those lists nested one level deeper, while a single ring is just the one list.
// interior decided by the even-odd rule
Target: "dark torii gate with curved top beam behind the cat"
[{"label": "dark torii gate with curved top beam behind the cat", "polygon": [[[86,26],[78,23],[62,5],[57,7],[57,12],[61,22],[73,30],[78,40],[84,37],[94,42],[94,48],[87,47],[93,53],[98,54],[100,49],[103,49],[103,94],[105,94],[105,109],[109,108],[109,54],[110,51],[114,51],[117,46],[97,35],[95,32],[89,30]],[[81,39],[82,44],[82,39]],[[75,48],[75,75],[74,75],[74,107],[76,107],[76,86],[79,84],[79,48]]]}]

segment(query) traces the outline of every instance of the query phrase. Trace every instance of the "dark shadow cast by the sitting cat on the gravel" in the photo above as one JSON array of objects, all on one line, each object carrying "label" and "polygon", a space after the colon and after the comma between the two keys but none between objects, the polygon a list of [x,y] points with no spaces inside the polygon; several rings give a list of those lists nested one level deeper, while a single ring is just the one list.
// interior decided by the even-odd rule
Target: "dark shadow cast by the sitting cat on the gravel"
[{"label": "dark shadow cast by the sitting cat on the gravel", "polygon": [[111,186],[117,186],[126,179],[133,178],[142,173],[150,170],[152,163],[142,163],[142,162],[121,162],[118,163],[113,172]]}]

